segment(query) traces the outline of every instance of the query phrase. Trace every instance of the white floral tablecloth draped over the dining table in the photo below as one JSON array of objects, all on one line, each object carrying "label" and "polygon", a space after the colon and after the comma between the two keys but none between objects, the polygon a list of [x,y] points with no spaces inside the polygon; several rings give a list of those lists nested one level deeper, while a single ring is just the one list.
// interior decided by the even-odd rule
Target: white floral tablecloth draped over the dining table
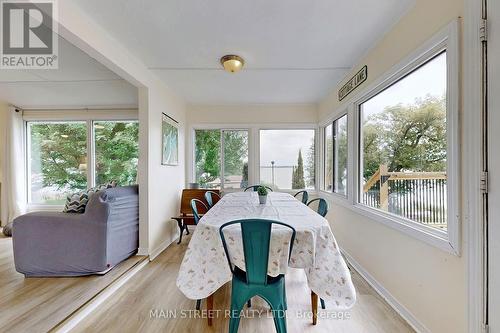
[{"label": "white floral tablecloth draped over the dining table", "polygon": [[[356,292],[347,265],[328,221],[287,193],[272,192],[265,205],[256,192],[225,195],[197,225],[184,255],[177,287],[190,299],[203,299],[214,293],[232,275],[219,235],[219,227],[229,221],[261,218],[280,221],[296,230],[290,266],[305,270],[309,288],[338,310],[356,302]],[[268,274],[286,273],[290,231],[273,226]],[[245,268],[241,229],[231,226],[224,232],[234,264]]]}]

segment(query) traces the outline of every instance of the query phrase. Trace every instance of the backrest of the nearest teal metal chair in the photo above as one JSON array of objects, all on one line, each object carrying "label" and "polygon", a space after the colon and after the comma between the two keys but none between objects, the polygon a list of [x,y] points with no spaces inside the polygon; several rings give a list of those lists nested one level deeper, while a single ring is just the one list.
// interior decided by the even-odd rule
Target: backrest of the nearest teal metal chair
[{"label": "backrest of the nearest teal metal chair", "polygon": [[219,229],[219,233],[222,239],[222,245],[224,246],[224,251],[226,252],[226,258],[229,263],[229,268],[231,269],[231,272],[233,274],[234,268],[229,256],[223,229],[234,224],[239,224],[241,226],[247,284],[266,285],[267,267],[269,260],[269,245],[271,242],[271,229],[273,224],[284,226],[292,231],[292,236],[290,237],[290,251],[288,253],[288,260],[290,260],[293,243],[295,241],[295,229],[292,226],[289,226],[288,224],[282,222],[264,219],[236,220],[223,224]]}]

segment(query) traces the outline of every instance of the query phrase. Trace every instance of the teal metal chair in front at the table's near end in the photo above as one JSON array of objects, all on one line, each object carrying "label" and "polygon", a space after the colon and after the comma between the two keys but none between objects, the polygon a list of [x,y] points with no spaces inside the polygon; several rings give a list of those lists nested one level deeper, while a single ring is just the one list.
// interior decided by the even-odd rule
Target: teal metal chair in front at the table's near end
[{"label": "teal metal chair in front at the table's near end", "polygon": [[[235,224],[239,224],[241,227],[245,271],[231,263],[224,237],[224,229]],[[290,260],[295,240],[295,229],[288,224],[272,220],[248,219],[225,223],[219,229],[229,269],[233,273],[229,333],[238,332],[240,312],[245,303],[254,296],[260,296],[271,307],[276,331],[286,333],[286,316],[283,313],[287,309],[285,275],[280,274],[276,277],[267,275],[273,224],[284,226],[292,231],[288,253],[288,260]]]}]

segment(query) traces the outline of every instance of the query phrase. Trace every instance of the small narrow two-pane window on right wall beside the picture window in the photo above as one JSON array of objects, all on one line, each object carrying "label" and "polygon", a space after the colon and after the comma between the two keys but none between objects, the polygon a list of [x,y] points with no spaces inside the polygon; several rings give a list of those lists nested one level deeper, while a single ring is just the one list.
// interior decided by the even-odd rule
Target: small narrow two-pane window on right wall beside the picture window
[{"label": "small narrow two-pane window on right wall beside the picture window", "polygon": [[347,196],[347,115],[325,127],[326,191]]}]

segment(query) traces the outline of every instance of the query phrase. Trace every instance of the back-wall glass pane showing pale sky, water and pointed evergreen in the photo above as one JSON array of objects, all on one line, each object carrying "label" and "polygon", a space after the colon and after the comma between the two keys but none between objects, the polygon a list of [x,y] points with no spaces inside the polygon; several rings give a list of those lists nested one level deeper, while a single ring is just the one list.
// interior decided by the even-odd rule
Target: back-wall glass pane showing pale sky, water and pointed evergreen
[{"label": "back-wall glass pane showing pale sky, water and pointed evergreen", "polygon": [[314,188],[314,130],[261,130],[260,183],[276,189]]}]

